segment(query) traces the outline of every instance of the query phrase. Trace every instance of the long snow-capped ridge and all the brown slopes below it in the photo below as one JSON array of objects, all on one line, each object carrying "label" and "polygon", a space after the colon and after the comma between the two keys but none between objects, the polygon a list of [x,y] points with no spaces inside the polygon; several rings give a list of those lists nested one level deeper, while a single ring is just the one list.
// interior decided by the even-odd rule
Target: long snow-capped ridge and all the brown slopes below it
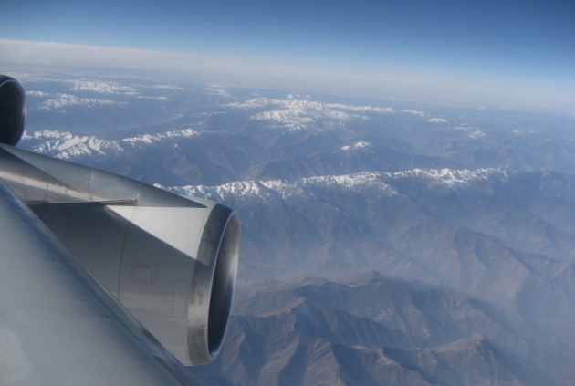
[{"label": "long snow-capped ridge and all the brown slopes below it", "polygon": [[[495,169],[172,188],[243,221],[247,293],[222,358],[197,371],[234,384],[314,384],[315,371],[343,384],[569,384],[574,188],[566,174]],[[384,276],[331,282],[370,270]],[[302,276],[330,279],[258,281]]]}]

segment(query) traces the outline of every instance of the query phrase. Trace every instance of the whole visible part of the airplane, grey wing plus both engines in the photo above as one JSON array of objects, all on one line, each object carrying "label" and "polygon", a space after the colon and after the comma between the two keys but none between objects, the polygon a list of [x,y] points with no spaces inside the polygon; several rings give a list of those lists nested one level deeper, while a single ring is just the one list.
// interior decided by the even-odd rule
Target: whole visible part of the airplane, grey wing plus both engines
[{"label": "whole visible part of the airplane, grey wing plus both engines", "polygon": [[193,385],[219,352],[237,214],[14,148],[26,98],[0,76],[0,383]]}]

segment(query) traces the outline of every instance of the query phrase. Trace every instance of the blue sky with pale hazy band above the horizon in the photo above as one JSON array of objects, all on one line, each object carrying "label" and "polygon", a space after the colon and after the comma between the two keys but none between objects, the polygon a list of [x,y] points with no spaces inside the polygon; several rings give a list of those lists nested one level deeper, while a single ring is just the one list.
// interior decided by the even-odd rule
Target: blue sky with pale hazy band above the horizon
[{"label": "blue sky with pale hazy band above the horizon", "polygon": [[4,0],[0,65],[83,60],[257,87],[575,111],[574,20],[575,2],[557,0]]}]

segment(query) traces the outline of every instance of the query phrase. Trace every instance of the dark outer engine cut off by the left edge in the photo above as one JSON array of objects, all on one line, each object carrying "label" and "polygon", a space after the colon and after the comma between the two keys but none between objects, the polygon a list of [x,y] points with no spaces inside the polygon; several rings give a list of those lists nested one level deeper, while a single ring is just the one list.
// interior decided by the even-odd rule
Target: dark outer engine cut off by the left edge
[{"label": "dark outer engine cut off by the left edge", "polygon": [[14,78],[0,74],[0,142],[14,146],[24,133],[26,94]]}]

